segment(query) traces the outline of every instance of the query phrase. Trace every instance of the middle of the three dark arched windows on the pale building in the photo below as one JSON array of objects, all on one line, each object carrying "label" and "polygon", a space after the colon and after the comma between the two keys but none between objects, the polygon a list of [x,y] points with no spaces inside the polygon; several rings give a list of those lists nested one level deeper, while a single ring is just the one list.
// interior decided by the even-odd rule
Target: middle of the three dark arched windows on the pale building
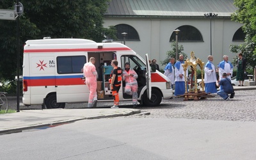
[{"label": "middle of the three dark arched windows on the pale building", "polygon": [[[180,26],[180,32],[178,35],[179,42],[203,42],[202,35],[198,29],[193,26]],[[170,42],[176,41],[176,33],[173,32],[170,38]]]}]

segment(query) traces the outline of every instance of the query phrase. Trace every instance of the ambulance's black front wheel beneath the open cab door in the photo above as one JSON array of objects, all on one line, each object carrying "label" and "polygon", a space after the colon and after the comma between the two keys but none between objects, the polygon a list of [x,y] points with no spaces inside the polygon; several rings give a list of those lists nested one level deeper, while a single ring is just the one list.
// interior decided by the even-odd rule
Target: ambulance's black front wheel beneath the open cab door
[{"label": "ambulance's black front wheel beneath the open cab door", "polygon": [[148,99],[147,91],[143,95],[143,104],[145,106],[158,106],[162,101],[162,94],[156,88],[152,88],[151,99]]}]

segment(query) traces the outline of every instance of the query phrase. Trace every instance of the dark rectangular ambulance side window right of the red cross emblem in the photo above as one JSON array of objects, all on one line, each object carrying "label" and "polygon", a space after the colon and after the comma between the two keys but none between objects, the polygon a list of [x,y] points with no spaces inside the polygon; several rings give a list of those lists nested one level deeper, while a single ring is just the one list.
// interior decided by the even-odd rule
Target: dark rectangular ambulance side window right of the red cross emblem
[{"label": "dark rectangular ambulance side window right of the red cross emblem", "polygon": [[58,74],[77,74],[86,63],[85,56],[58,56],[57,72]]}]

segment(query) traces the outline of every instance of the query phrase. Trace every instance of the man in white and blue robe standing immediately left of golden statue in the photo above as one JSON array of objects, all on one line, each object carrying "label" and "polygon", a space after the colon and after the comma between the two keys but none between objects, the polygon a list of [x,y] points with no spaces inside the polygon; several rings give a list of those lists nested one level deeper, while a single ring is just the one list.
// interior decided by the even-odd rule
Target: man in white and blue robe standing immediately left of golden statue
[{"label": "man in white and blue robe standing immediately left of golden statue", "polygon": [[[180,54],[179,61],[177,61],[174,65],[175,67],[175,92],[174,95],[184,95],[185,93],[185,73],[184,68],[182,66],[184,64],[184,56]],[[188,77],[188,68],[187,73]]]}]

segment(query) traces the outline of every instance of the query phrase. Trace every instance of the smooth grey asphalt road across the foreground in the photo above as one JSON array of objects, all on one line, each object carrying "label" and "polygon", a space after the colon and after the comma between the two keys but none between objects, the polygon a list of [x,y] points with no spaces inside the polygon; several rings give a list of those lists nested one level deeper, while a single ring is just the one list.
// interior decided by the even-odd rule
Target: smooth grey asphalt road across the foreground
[{"label": "smooth grey asphalt road across the foreground", "polygon": [[1,135],[1,159],[256,159],[255,122],[106,118]]}]

